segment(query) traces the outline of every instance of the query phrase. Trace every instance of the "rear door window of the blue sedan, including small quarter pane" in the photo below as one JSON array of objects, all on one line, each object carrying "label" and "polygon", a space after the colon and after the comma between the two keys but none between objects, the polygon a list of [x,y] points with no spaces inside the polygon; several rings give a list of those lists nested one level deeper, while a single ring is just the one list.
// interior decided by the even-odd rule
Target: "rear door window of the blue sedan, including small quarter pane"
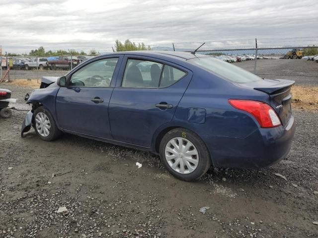
[{"label": "rear door window of the blue sedan, including small quarter pane", "polygon": [[128,59],[122,87],[158,88],[168,87],[180,80],[186,73],[172,66],[149,61]]}]

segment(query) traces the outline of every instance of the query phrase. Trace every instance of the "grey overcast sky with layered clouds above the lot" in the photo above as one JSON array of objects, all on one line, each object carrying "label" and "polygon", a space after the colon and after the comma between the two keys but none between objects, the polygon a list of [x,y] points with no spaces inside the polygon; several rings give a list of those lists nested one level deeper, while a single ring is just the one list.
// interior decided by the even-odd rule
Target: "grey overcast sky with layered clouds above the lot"
[{"label": "grey overcast sky with layered clouds above the lot", "polygon": [[318,0],[0,0],[0,45],[12,53],[40,46],[110,51],[116,39],[127,38],[152,46],[255,37],[315,41],[317,23]]}]

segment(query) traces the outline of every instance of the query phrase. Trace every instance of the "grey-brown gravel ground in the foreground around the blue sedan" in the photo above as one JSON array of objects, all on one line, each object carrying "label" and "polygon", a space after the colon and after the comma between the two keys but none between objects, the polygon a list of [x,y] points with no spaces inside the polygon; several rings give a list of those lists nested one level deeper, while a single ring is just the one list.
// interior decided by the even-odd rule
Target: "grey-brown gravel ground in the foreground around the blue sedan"
[{"label": "grey-brown gravel ground in the foreground around the blue sedan", "polygon": [[[1,87],[27,109],[31,89]],[[318,113],[294,112],[296,136],[281,163],[211,168],[198,182],[171,177],[143,151],[68,134],[21,138],[25,114],[0,119],[1,238],[318,237]]]}]

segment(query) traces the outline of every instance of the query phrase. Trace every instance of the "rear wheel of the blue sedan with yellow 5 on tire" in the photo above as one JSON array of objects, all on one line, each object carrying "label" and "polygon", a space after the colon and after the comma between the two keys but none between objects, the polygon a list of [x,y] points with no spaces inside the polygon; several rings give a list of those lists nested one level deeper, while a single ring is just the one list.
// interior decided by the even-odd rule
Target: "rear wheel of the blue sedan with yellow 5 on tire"
[{"label": "rear wheel of the blue sedan with yellow 5 on tire", "polygon": [[[179,141],[185,147],[190,142],[187,149],[187,152],[190,154],[188,155],[188,159],[185,157],[186,152],[178,149]],[[173,153],[169,151],[173,151]],[[167,171],[174,177],[184,181],[200,179],[211,166],[210,153],[202,139],[192,131],[181,127],[172,129],[163,136],[159,152],[161,162]],[[167,156],[171,156],[171,158],[167,160]],[[180,167],[180,161],[184,165],[183,171]],[[173,168],[173,165],[176,166]]]}]

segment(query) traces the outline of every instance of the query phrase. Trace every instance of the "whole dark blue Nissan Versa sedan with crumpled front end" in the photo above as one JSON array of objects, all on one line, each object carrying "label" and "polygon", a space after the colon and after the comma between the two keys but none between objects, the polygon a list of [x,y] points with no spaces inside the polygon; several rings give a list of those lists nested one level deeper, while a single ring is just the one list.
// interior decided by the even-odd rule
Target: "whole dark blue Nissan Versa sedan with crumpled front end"
[{"label": "whole dark blue Nissan Versa sedan with crumpled front end", "polygon": [[182,52],[116,52],[43,77],[22,125],[148,150],[183,180],[216,167],[267,167],[290,151],[294,81],[262,79]]}]

